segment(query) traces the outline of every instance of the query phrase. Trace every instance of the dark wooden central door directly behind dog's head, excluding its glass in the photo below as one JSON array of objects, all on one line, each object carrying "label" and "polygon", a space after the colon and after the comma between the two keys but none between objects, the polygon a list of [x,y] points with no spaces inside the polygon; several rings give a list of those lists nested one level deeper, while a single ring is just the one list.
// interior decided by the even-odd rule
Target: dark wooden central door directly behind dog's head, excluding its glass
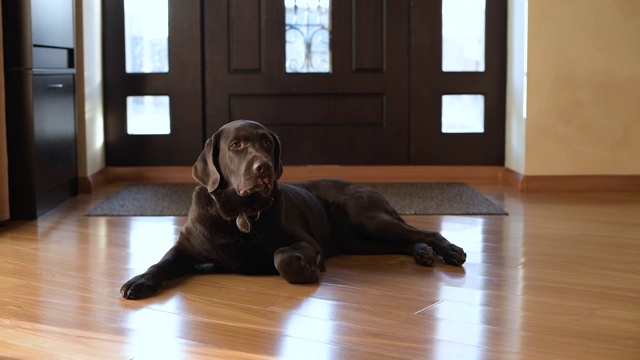
[{"label": "dark wooden central door directly behind dog's head, excluding its glass", "polygon": [[282,0],[205,1],[205,127],[258,120],[286,164],[409,162],[409,1],[332,1],[330,73],[285,71]]}]

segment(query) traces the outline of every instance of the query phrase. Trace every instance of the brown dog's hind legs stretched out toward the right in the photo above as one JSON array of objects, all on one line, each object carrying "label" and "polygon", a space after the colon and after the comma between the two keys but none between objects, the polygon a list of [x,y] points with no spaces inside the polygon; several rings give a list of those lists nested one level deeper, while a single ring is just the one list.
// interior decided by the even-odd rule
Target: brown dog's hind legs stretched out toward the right
[{"label": "brown dog's hind legs stretched out toward the right", "polygon": [[[347,240],[345,246],[353,253],[381,254],[401,253],[413,255],[421,265],[433,263],[435,250],[451,265],[462,265],[466,258],[464,250],[450,243],[440,233],[418,230],[409,226],[397,214],[387,212],[366,214],[355,220],[355,238]],[[432,250],[433,249],[433,250]]]}]

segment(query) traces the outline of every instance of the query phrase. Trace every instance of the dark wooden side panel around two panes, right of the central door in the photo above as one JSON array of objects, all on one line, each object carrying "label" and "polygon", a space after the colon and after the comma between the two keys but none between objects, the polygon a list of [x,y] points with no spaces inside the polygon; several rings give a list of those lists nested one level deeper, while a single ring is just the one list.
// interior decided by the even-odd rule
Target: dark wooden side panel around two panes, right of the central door
[{"label": "dark wooden side panel around two panes, right of the central door", "polygon": [[[507,0],[486,0],[485,70],[442,71],[441,1],[414,1],[411,21],[411,163],[504,165]],[[443,133],[442,96],[484,95],[483,133]]]}]

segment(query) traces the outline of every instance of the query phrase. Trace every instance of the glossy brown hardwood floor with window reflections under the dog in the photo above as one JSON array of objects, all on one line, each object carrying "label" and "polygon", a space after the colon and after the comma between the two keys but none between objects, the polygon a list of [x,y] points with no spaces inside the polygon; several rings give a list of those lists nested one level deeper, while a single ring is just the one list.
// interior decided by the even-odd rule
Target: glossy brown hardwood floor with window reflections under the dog
[{"label": "glossy brown hardwood floor with window reflections under the dog", "polygon": [[462,268],[338,256],[316,285],[202,275],[127,301],[185,218],[82,216],[122,185],[0,226],[0,357],[640,358],[640,191],[471,184],[510,215],[406,217],[464,247]]}]

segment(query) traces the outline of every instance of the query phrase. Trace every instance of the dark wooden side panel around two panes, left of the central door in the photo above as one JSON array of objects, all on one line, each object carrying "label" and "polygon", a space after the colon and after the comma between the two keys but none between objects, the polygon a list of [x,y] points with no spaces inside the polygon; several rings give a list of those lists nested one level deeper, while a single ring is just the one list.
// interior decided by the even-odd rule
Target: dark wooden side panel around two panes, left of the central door
[{"label": "dark wooden side panel around two panes, left of the central door", "polygon": [[[200,2],[170,0],[169,71],[126,73],[124,1],[103,2],[105,138],[109,166],[192,165],[202,151]],[[127,96],[168,95],[170,133],[130,135]]]}]

